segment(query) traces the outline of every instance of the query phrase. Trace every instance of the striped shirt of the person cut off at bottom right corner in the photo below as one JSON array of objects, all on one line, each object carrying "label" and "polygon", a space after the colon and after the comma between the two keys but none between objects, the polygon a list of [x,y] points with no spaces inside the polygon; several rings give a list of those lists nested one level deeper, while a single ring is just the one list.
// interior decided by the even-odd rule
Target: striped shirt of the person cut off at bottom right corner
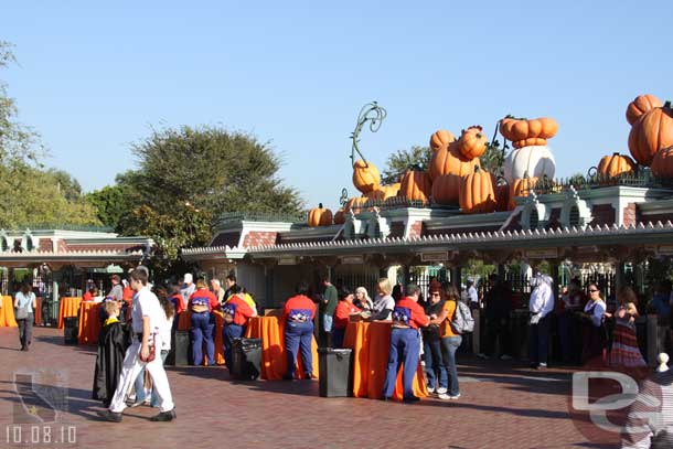
[{"label": "striped shirt of the person cut off at bottom right corner", "polygon": [[643,381],[627,426],[641,431],[623,434],[622,448],[673,448],[673,370]]}]

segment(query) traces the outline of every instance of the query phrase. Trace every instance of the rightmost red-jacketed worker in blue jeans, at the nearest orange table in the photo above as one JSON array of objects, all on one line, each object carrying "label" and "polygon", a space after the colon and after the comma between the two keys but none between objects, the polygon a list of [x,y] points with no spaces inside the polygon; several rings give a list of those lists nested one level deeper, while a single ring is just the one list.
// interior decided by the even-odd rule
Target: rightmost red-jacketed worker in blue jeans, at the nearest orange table
[{"label": "rightmost red-jacketed worker in blue jeans, at the nearest orange table", "polygon": [[418,367],[420,353],[420,336],[418,328],[425,328],[430,319],[425,314],[423,307],[418,304],[420,289],[416,284],[409,284],[406,288],[407,296],[395,303],[393,309],[393,325],[391,330],[391,351],[388,353],[388,366],[383,384],[383,400],[388,400],[395,392],[397,372],[404,363],[402,383],[404,385],[404,400],[407,403],[419,400],[414,395],[414,376]]}]

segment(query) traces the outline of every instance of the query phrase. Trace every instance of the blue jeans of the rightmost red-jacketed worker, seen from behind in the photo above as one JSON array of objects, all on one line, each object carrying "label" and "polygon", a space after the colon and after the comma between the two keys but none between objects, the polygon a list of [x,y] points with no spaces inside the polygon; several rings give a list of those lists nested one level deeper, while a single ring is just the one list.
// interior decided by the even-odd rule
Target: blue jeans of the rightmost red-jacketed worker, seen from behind
[{"label": "blue jeans of the rightmost red-jacketed worker, seen from behind", "polygon": [[391,331],[391,350],[388,352],[388,366],[385,372],[383,396],[391,397],[395,393],[397,372],[404,363],[402,384],[404,397],[414,395],[414,376],[418,368],[418,353],[420,352],[420,335],[416,329],[396,329]]}]

